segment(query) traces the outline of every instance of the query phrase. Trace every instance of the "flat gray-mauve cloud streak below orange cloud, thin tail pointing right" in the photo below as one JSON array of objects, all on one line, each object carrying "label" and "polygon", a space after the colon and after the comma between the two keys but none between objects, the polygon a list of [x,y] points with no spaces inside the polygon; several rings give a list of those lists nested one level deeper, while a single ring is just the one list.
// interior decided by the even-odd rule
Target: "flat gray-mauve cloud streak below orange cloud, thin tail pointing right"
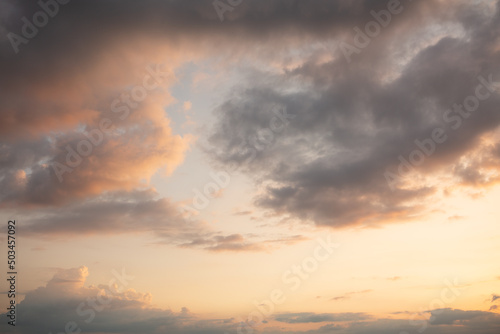
[{"label": "flat gray-mauve cloud streak below orange cloud, thin tail pointing right", "polygon": [[307,240],[303,235],[224,234],[153,189],[106,192],[59,207],[11,210],[29,238],[66,239],[142,233],[157,245],[210,252],[270,251]]}]

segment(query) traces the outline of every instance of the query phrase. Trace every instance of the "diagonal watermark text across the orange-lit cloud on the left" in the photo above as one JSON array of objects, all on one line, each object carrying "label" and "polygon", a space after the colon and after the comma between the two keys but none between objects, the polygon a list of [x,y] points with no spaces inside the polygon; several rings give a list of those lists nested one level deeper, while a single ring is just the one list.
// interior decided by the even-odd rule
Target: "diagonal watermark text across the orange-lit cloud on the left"
[{"label": "diagonal watermark text across the orange-lit cloud on the left", "polygon": [[[111,102],[111,111],[116,113],[121,121],[127,119],[133,109],[139,107],[140,103],[147,98],[150,91],[161,87],[168,72],[162,72],[160,66],[156,65],[155,69],[147,66],[147,74],[144,76],[142,84],[132,87],[130,94],[128,91],[121,93],[120,98],[116,98]],[[110,118],[101,118],[97,128],[83,133],[87,139],[78,141],[74,147],[66,145],[65,163],[63,164],[58,161],[51,163],[59,182],[63,182],[64,174],[71,173],[75,168],[80,166],[83,160],[92,154],[94,148],[104,142],[105,136],[113,135],[115,130],[113,120]]]}]

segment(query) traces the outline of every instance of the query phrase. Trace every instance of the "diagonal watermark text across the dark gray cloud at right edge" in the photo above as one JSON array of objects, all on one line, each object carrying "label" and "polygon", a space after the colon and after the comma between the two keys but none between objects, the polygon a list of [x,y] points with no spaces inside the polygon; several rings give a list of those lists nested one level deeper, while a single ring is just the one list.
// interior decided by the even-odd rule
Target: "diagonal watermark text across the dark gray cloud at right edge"
[{"label": "diagonal watermark text across the dark gray cloud at right edge", "polygon": [[[467,96],[462,104],[453,104],[451,109],[447,109],[443,113],[443,121],[450,124],[452,130],[459,129],[463,121],[469,118],[473,112],[477,111],[481,101],[488,99],[498,88],[500,82],[493,81],[493,75],[490,74],[488,79],[483,76],[478,76],[479,84],[474,90],[474,94]],[[398,156],[399,165],[397,173],[386,170],[384,177],[392,191],[396,189],[396,185],[404,179],[408,173],[415,172],[415,167],[422,165],[425,160],[436,152],[437,146],[448,140],[446,130],[441,127],[434,128],[430,137],[422,140],[415,139],[416,148],[410,152],[408,158],[405,159],[402,155]]]}]

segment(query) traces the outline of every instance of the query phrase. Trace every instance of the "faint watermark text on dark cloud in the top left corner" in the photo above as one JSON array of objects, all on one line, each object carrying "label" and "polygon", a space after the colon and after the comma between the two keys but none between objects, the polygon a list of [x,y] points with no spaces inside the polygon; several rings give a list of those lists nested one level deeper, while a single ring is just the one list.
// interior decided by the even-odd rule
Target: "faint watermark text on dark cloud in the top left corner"
[{"label": "faint watermark text on dark cloud in the top left corner", "polygon": [[23,16],[21,21],[23,26],[21,28],[21,35],[9,32],[7,38],[14,49],[14,52],[19,53],[19,46],[21,44],[28,44],[30,40],[38,35],[39,29],[45,27],[51,18],[54,18],[59,13],[59,6],[66,5],[70,0],[40,0],[38,6],[41,10],[33,14],[31,21]]}]

